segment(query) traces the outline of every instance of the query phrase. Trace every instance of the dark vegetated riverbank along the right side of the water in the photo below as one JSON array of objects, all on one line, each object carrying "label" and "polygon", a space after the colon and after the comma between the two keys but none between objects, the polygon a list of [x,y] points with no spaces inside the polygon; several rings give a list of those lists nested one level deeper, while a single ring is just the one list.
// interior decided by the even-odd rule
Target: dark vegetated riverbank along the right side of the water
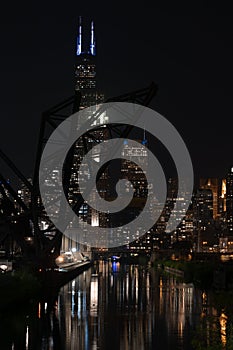
[{"label": "dark vegetated riverbank along the right side of the water", "polygon": [[[190,349],[233,350],[233,265],[210,261],[159,260],[153,266],[163,274],[175,275],[177,280],[184,283],[193,283],[203,295],[208,295],[203,303],[200,324],[192,330]],[[212,306],[217,311],[215,315],[207,311]]]}]

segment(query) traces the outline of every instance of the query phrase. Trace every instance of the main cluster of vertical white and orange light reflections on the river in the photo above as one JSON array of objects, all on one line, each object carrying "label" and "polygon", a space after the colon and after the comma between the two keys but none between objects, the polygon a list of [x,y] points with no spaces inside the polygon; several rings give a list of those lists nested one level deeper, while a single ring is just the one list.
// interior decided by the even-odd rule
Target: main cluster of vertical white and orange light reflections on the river
[{"label": "main cluster of vertical white and orange light reflections on the river", "polygon": [[66,349],[183,349],[193,299],[193,285],[101,261],[61,289],[58,321]]}]

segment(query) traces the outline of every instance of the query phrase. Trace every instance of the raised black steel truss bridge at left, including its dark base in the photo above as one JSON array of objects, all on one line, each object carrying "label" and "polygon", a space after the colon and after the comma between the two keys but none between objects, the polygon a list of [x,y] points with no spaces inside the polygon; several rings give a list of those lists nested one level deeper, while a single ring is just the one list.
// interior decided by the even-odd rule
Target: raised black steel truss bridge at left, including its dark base
[{"label": "raised black steel truss bridge at left, including its dark base", "polygon": [[[157,86],[152,82],[148,87],[110,98],[105,102],[132,102],[148,106],[155,97],[156,92]],[[62,243],[62,232],[60,232],[46,216],[40,200],[39,167],[41,155],[49,136],[57,126],[71,114],[79,111],[80,101],[81,94],[76,92],[75,95],[42,113],[32,182],[26,178],[4,151],[0,150],[0,160],[11,169],[13,176],[22,183],[30,197],[28,202],[23,201],[17,191],[9,183],[6,176],[0,172],[0,244],[3,241],[16,242],[22,251],[25,261],[29,261],[36,267],[53,266],[55,259],[60,254]],[[95,118],[95,116],[93,116],[93,118]],[[105,129],[106,128],[110,138],[112,135],[126,138],[132,126],[108,124]],[[97,127],[96,130],[98,129]],[[84,152],[87,149],[87,142],[90,138],[94,143],[98,142],[93,129],[91,132],[82,135]],[[66,195],[68,195],[71,179],[72,162],[73,154],[72,151],[70,151],[64,165],[63,174],[63,188]],[[103,167],[99,172],[99,177],[101,177],[104,170]],[[72,209],[77,212],[82,204],[83,198],[79,195]],[[60,215],[62,215],[62,213],[60,213]],[[46,229],[41,228],[41,221],[47,223],[48,227]]]}]

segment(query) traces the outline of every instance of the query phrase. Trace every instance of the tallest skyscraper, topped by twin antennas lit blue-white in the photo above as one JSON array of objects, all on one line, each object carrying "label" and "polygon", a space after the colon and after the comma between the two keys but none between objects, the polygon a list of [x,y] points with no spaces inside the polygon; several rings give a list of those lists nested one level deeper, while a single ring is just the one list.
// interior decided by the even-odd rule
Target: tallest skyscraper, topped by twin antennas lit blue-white
[{"label": "tallest skyscraper, topped by twin antennas lit blue-white", "polygon": [[[75,91],[79,91],[81,94],[81,103],[79,106],[80,110],[89,107],[91,108],[91,112],[95,112],[98,105],[104,101],[104,94],[97,90],[96,38],[94,22],[88,21],[86,18],[84,19],[82,17],[79,17],[77,34]],[[85,111],[83,111],[82,118],[84,118],[84,120],[80,120],[80,122],[90,118],[90,109],[87,114],[85,114]],[[101,115],[100,118],[105,118],[105,116]],[[103,122],[103,120],[101,120],[101,122]],[[99,121],[97,120],[95,124],[99,124]],[[103,130],[94,131],[93,134],[94,139],[98,140],[99,142],[105,137]],[[79,171],[79,165],[85,153],[92,149],[93,146],[93,138],[85,138],[84,140],[82,137],[76,142],[69,191],[69,201],[71,205],[73,204],[74,197],[79,193],[78,175],[79,177],[85,178],[85,176],[88,176],[89,174],[88,165],[83,173]],[[96,147],[95,151],[93,152],[96,152]],[[87,207],[85,204],[82,206],[82,212],[79,212],[79,214],[83,218],[87,216]]]}]

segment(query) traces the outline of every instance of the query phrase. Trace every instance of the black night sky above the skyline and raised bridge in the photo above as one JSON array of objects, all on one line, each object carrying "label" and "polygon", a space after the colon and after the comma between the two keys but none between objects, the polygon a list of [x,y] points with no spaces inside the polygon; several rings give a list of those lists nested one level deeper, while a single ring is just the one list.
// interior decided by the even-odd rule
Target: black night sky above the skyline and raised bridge
[{"label": "black night sky above the skyline and raised bridge", "polygon": [[0,147],[26,176],[41,112],[73,94],[80,15],[95,20],[98,82],[108,97],[156,82],[151,106],[182,135],[196,176],[224,176],[232,166],[231,12],[212,1],[139,4],[11,2],[2,9]]}]

